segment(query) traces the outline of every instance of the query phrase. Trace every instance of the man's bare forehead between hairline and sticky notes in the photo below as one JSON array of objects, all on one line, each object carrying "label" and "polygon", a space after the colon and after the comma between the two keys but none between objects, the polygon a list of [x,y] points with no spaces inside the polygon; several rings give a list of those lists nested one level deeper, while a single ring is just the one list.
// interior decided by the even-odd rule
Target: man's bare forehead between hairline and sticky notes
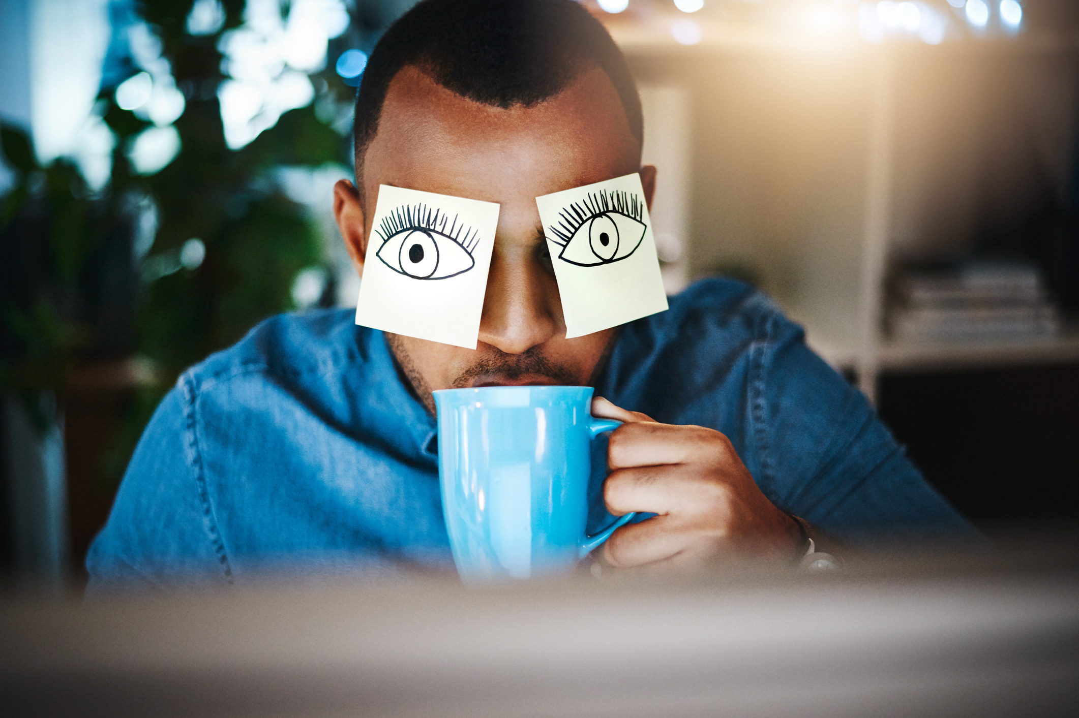
[{"label": "man's bare forehead between hairline and sticky notes", "polygon": [[640,148],[600,68],[531,107],[462,97],[415,67],[394,78],[364,157],[367,196],[393,184],[500,204],[634,171]]}]

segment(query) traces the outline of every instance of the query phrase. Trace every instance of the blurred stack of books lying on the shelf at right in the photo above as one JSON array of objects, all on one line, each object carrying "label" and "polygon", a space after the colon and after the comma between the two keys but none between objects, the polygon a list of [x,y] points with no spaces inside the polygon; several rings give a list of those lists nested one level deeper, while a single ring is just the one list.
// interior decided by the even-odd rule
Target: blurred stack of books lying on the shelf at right
[{"label": "blurred stack of books lying on the shelf at right", "polygon": [[1058,329],[1041,273],[1024,262],[968,262],[897,277],[892,336],[916,342],[1030,339]]}]

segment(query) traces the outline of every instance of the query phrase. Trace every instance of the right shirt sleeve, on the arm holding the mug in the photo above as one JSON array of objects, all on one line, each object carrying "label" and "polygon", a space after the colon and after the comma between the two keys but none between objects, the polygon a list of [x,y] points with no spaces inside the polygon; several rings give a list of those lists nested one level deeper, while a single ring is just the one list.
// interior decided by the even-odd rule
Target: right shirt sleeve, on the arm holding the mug
[{"label": "right shirt sleeve, on the arm holding the mug", "polygon": [[762,489],[780,508],[861,544],[981,535],[925,480],[873,406],[776,313],[751,391]]}]

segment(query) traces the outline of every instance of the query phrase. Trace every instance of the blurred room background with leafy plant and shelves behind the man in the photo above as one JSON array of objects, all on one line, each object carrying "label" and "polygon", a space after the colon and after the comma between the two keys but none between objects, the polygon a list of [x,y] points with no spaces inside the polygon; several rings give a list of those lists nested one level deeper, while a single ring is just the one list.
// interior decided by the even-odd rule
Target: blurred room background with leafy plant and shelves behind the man
[{"label": "blurred room background with leafy plant and shelves behind the man", "polygon": [[[186,367],[354,303],[330,189],[411,4],[0,2],[5,576],[80,576]],[[986,530],[1075,522],[1075,3],[586,5],[641,85],[668,290],[775,296]]]}]

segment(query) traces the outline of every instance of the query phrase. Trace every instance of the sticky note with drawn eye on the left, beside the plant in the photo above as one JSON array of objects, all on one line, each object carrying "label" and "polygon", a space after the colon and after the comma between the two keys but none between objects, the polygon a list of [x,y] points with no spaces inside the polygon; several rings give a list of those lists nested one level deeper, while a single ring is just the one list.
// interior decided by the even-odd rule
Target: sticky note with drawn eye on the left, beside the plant
[{"label": "sticky note with drawn eye on the left, beside the plant", "polygon": [[356,323],[475,349],[498,205],[379,187]]}]

